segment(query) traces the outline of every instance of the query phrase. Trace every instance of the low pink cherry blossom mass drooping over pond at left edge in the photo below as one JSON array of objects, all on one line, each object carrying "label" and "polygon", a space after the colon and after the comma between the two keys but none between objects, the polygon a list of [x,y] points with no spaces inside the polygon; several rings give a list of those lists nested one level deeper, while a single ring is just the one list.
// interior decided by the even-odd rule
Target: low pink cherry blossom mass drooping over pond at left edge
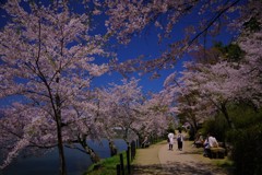
[{"label": "low pink cherry blossom mass drooping over pond at left edge", "polygon": [[34,152],[39,148],[57,147],[57,138],[53,135],[56,124],[50,117],[41,117],[44,114],[37,107],[19,103],[4,109],[0,122],[2,133],[0,144],[1,152],[8,158],[1,167],[7,166],[23,148]]}]

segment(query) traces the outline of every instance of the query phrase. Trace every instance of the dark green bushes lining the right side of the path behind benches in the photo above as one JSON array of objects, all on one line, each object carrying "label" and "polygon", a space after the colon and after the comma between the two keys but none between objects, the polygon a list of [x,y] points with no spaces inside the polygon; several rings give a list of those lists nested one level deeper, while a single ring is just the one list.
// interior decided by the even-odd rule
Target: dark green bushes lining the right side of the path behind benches
[{"label": "dark green bushes lining the right side of the path behind benches", "polygon": [[226,141],[233,145],[230,159],[237,175],[261,174],[262,163],[262,110],[254,109],[247,104],[234,104],[228,113],[236,126],[228,128],[223,116],[207,120],[202,131],[212,132],[218,141]]}]

